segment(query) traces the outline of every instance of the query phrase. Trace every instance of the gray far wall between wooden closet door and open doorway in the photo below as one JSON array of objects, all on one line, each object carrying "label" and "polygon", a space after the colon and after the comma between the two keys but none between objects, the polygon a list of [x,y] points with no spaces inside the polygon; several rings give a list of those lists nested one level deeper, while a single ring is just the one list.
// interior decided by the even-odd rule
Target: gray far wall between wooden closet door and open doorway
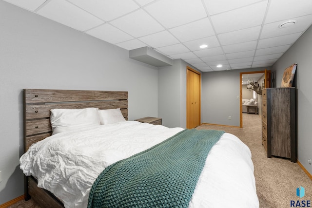
[{"label": "gray far wall between wooden closet door and open doorway", "polygon": [[[240,74],[269,70],[252,68],[202,74],[202,122],[228,126],[240,126]],[[231,119],[228,119],[231,116]]]}]

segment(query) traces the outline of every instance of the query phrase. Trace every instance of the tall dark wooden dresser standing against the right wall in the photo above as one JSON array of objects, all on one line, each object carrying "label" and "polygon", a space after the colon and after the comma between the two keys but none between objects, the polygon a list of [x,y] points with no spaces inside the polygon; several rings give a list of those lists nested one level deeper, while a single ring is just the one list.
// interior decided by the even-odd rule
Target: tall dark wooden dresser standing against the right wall
[{"label": "tall dark wooden dresser standing against the right wall", "polygon": [[296,162],[294,87],[262,90],[262,145],[268,157]]}]

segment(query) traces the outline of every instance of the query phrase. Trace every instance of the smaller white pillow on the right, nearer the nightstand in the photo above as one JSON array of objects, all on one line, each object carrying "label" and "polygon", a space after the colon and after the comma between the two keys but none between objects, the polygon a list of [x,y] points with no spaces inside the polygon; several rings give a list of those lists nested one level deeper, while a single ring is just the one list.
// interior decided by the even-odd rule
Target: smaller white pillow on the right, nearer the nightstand
[{"label": "smaller white pillow on the right, nearer the nightstand", "polygon": [[126,119],[123,117],[120,108],[116,109],[105,109],[98,110],[99,120],[101,125],[104,124],[113,124],[120,121],[125,121]]}]

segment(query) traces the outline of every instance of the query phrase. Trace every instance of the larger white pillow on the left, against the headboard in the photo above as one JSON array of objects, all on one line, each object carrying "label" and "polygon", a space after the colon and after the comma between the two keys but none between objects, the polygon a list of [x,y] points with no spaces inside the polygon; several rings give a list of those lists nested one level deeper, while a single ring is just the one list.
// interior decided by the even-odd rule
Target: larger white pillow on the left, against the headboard
[{"label": "larger white pillow on the left, against the headboard", "polygon": [[100,126],[98,108],[51,109],[52,134]]}]

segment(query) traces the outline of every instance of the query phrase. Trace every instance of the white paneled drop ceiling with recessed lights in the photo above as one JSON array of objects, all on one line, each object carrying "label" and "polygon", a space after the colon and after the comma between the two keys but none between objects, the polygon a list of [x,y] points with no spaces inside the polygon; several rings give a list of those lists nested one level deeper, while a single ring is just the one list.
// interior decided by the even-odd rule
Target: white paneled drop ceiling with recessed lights
[{"label": "white paneled drop ceiling with recessed lights", "polygon": [[202,72],[272,66],[312,24],[312,0],[5,1],[127,50],[148,46]]}]

